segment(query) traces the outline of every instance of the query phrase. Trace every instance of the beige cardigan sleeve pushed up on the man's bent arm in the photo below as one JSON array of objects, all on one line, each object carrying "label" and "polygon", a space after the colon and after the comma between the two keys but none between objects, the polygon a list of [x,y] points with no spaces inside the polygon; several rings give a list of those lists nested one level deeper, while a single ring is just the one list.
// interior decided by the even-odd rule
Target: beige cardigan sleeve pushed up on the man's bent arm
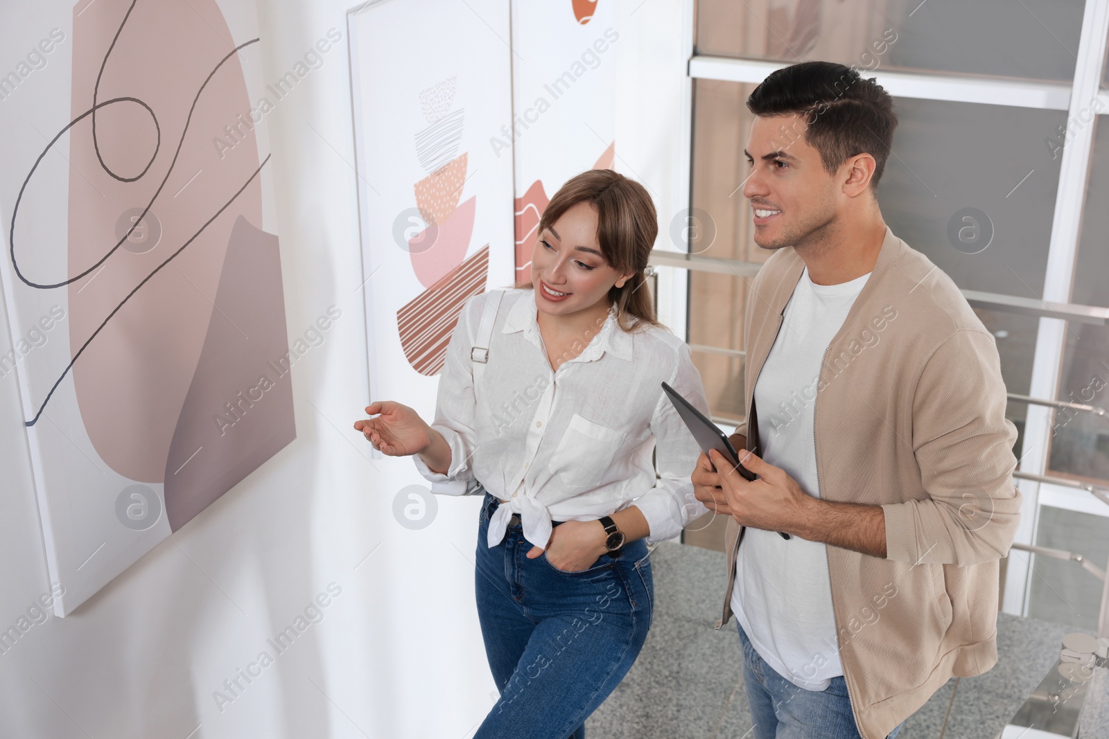
[{"label": "beige cardigan sleeve pushed up on the man's bent arm", "polygon": [[1016,427],[993,337],[959,330],[928,359],[913,398],[927,497],[883,505],[886,557],[968,565],[1006,556],[1020,517]]}]

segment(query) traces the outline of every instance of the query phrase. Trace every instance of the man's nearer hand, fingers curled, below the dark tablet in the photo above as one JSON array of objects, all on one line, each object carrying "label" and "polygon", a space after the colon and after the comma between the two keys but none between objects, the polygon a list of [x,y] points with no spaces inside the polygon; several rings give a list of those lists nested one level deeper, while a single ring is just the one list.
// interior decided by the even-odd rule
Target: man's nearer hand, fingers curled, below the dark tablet
[{"label": "man's nearer hand, fingers curled, below the dark tablet", "polygon": [[797,481],[786,474],[785,470],[744,450],[739,452],[740,464],[759,475],[756,480],[749,482],[723,454],[716,450],[709,454],[709,461],[720,470],[716,476],[720,479],[723,497],[730,515],[737,524],[797,534],[804,538],[801,528],[816,499],[801,490]]}]

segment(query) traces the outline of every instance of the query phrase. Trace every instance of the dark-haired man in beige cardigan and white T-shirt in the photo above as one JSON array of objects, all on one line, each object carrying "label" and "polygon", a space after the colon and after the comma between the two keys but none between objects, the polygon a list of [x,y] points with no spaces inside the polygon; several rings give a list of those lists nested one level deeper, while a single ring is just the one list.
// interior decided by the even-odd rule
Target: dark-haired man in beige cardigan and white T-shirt
[{"label": "dark-haired man in beige cardigan and white T-shirt", "polygon": [[716,628],[736,615],[755,737],[881,739],[997,661],[1017,432],[994,337],[882,219],[888,93],[805,62],[747,107],[744,195],[774,254],[750,287],[732,437],[759,479],[716,452],[692,476],[732,519]]}]

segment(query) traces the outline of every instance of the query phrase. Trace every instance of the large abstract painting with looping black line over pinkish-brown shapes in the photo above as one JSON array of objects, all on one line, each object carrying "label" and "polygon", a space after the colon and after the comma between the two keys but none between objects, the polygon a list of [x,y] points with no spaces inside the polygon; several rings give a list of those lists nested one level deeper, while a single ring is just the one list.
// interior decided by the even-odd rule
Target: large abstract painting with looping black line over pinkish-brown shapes
[{"label": "large abstract painting with looping black line over pinkish-brown shapes", "polygon": [[67,7],[0,121],[10,336],[52,324],[14,357],[59,616],[296,437],[254,3]]}]

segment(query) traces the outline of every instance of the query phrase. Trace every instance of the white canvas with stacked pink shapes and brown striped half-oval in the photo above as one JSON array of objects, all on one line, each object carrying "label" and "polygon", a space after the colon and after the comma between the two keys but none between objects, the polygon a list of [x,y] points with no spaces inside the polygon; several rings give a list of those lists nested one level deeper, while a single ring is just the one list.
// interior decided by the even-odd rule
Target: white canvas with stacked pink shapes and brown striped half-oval
[{"label": "white canvas with stacked pink shapes and brown striped half-oval", "polygon": [[[512,279],[512,157],[490,138],[512,121],[512,65],[488,43],[509,38],[508,10],[406,0],[347,12],[368,400],[429,420],[462,307]],[[383,474],[421,480],[411,465]]]}]

